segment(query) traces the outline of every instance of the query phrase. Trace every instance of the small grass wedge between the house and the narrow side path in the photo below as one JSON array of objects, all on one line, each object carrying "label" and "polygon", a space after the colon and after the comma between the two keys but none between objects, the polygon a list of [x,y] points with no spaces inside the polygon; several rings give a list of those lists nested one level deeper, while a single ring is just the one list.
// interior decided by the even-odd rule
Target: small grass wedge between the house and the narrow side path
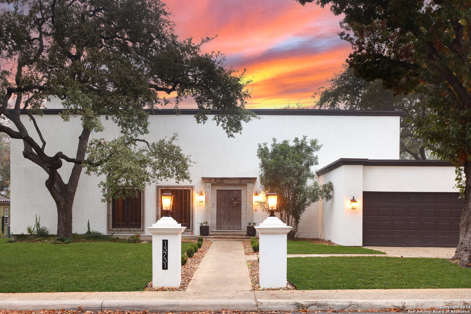
[{"label": "small grass wedge between the house and the narrow side path", "polygon": [[288,241],[288,254],[386,254],[384,252],[365,248],[352,248],[315,244],[308,241]]}]

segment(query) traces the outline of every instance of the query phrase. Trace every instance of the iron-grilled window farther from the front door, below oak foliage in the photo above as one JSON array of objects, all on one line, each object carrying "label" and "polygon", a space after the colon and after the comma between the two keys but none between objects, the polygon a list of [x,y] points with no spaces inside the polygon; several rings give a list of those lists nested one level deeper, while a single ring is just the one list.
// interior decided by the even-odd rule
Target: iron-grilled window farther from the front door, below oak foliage
[{"label": "iron-grilled window farther from the front door, below oak foliage", "polygon": [[144,195],[120,197],[108,204],[108,230],[142,231],[144,230]]}]

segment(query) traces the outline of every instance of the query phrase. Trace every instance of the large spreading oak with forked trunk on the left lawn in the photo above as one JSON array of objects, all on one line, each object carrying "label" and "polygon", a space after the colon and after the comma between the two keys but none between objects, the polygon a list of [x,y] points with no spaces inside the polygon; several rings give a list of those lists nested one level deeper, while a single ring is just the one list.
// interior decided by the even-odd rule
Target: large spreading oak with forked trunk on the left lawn
[{"label": "large spreading oak with forked trunk on the left lawn", "polygon": [[[47,173],[46,187],[57,205],[57,235],[72,236],[73,199],[83,167],[88,174],[106,174],[100,183],[104,201],[169,177],[189,180],[191,161],[173,144],[176,136],[156,143],[142,138],[149,113],[169,104],[162,94],[174,92],[177,113],[179,102],[193,97],[198,123],[207,120],[209,110],[219,109],[214,120],[228,136],[255,116],[244,108],[250,94],[243,74],[227,70],[219,53],[201,52],[209,38],[198,44],[180,40],[159,0],[1,2],[0,116],[17,130],[0,125],[0,131],[23,140],[24,158]],[[45,151],[48,139],[35,115],[42,114],[48,97],[62,100],[64,121],[81,119],[73,156]],[[10,103],[13,108],[7,110]],[[23,122],[28,120],[20,114],[29,115],[41,141],[28,133]],[[90,139],[92,131],[103,131],[101,119],[114,121],[120,136]],[[64,162],[73,164],[65,179],[57,171]]]}]

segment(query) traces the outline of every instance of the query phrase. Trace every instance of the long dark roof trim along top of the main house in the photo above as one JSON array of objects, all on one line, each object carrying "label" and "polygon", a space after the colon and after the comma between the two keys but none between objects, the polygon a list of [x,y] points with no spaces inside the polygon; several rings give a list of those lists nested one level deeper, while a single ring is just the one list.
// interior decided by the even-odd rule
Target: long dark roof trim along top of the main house
[{"label": "long dark roof trim along top of the main house", "polygon": [[[7,109],[13,113],[14,109]],[[249,109],[258,115],[320,115],[320,116],[376,116],[376,117],[399,117],[403,111],[378,111],[378,110],[327,110],[327,109]],[[65,109],[46,109],[44,114],[59,114]],[[149,111],[149,109],[146,109]],[[210,110],[208,114],[219,114],[220,110]],[[198,113],[198,109],[180,109],[181,114]],[[21,112],[21,114],[25,114]],[[174,109],[154,109],[153,113],[158,115],[174,115]]]}]

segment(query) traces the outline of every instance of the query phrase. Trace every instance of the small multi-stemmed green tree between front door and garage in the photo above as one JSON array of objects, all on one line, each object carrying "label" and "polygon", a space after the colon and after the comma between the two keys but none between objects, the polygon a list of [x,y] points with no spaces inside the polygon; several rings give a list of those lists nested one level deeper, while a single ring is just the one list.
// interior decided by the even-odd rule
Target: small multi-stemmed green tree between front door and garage
[{"label": "small multi-stemmed green tree between front door and garage", "polygon": [[[317,139],[308,141],[306,138],[295,137],[292,145],[288,140],[278,143],[274,138],[271,149],[263,143],[257,150],[260,186],[264,193],[275,191],[278,194],[276,209],[280,219],[293,227],[288,233],[290,239],[298,233],[301,216],[309,205],[332,199],[332,182],[319,186],[311,170],[318,164],[314,153],[322,145],[317,144]],[[267,201],[260,201],[259,205],[263,211],[268,211]]]}]

